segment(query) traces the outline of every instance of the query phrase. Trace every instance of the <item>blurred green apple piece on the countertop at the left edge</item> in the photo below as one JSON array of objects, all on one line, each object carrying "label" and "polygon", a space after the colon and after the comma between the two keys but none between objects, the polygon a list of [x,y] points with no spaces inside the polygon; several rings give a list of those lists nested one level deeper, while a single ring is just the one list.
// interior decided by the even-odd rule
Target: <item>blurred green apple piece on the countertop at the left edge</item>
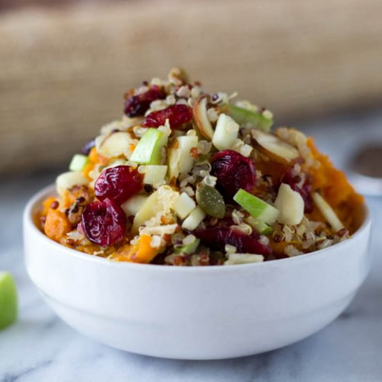
[{"label": "blurred green apple piece on the countertop at the left edge", "polygon": [[0,272],[0,329],[17,319],[17,288],[9,272]]}]

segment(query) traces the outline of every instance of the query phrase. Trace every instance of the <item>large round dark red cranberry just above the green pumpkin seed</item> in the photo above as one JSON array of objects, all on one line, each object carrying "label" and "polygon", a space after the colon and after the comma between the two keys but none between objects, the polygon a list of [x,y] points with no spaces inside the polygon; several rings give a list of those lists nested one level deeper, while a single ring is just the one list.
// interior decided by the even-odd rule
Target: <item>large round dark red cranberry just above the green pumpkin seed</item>
[{"label": "large round dark red cranberry just above the green pumpkin seed", "polygon": [[211,174],[217,177],[217,189],[231,201],[240,188],[252,192],[256,185],[254,163],[233,150],[215,153],[211,158]]}]

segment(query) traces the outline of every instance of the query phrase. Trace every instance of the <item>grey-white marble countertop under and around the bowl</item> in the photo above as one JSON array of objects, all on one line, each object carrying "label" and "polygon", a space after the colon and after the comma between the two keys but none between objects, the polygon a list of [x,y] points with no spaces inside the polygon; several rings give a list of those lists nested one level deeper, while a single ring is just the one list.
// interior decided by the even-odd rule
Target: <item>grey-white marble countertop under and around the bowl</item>
[{"label": "grey-white marble countertop under and around the bowl", "polygon": [[[336,117],[306,130],[336,165],[344,167],[360,140],[378,137],[382,142],[382,115]],[[19,290],[19,319],[0,332],[1,382],[382,381],[382,198],[367,199],[374,224],[371,272],[335,322],[297,344],[258,356],[164,360],[112,349],[76,333],[44,304],[28,279],[22,258],[22,209],[55,175],[3,178],[0,183],[0,269],[13,272]]]}]

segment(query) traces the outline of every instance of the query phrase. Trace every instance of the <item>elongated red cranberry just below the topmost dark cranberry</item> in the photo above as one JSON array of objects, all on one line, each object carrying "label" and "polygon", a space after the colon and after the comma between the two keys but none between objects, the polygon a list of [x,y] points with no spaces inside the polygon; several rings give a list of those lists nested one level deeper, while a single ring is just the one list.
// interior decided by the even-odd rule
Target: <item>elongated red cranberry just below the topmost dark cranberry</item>
[{"label": "elongated red cranberry just below the topmost dark cranberry", "polygon": [[178,128],[190,122],[192,119],[192,110],[187,105],[173,105],[163,110],[153,111],[153,113],[150,113],[144,119],[143,126],[163,126],[166,119],[169,120],[169,126],[171,126],[171,128]]}]

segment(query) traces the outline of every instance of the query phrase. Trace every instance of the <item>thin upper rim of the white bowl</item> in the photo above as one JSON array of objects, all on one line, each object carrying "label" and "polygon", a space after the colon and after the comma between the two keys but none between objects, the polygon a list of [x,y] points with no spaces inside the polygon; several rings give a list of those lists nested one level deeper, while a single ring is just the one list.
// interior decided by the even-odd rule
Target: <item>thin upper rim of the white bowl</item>
[{"label": "thin upper rim of the white bowl", "polygon": [[[324,258],[328,256],[333,256],[331,254],[331,251],[333,251],[333,248],[340,249],[340,247],[344,247],[349,243],[349,240],[344,240],[342,242],[339,242],[338,244],[333,245],[332,247],[327,247],[324,249],[319,249],[318,251],[310,252],[308,254],[304,254],[301,256],[292,256],[289,258],[281,258],[276,260],[269,260],[264,261],[260,263],[247,263],[247,264],[232,264],[232,265],[224,265],[224,266],[205,266],[205,267],[169,267],[164,265],[156,265],[156,264],[144,264],[144,263],[131,263],[128,261],[113,261],[109,260],[108,258],[101,258],[99,256],[94,256],[90,254],[85,254],[81,251],[76,251],[75,249],[71,249],[68,247],[63,246],[62,244],[55,242],[51,239],[49,239],[38,227],[36,226],[35,222],[33,222],[32,213],[35,207],[44,199],[44,197],[47,197],[49,194],[55,194],[56,188],[55,185],[51,184],[47,187],[42,188],[42,190],[36,192],[31,199],[28,200],[26,203],[26,206],[24,207],[24,213],[23,213],[23,222],[24,227],[23,231],[26,229],[26,224],[28,226],[31,226],[31,229],[33,233],[37,234],[38,237],[40,237],[42,240],[45,240],[47,244],[50,244],[54,249],[66,253],[67,255],[74,256],[78,260],[84,260],[87,262],[93,262],[93,263],[99,263],[106,265],[108,267],[127,267],[135,270],[144,270],[144,269],[151,269],[153,272],[229,272],[233,269],[243,269],[243,268],[254,268],[254,269],[262,269],[263,267],[274,267],[274,266],[282,266],[284,263],[301,263],[301,262],[307,262],[307,261],[318,261],[318,260],[324,260]],[[360,225],[358,230],[354,233],[354,235],[351,236],[351,239],[354,240],[355,238],[358,238],[360,235],[363,235],[366,231],[370,230],[371,227],[371,216],[369,212],[369,208],[367,206],[366,201],[363,203],[363,208],[365,210],[365,217],[363,219],[363,223]],[[24,240],[24,246],[26,245]],[[24,249],[25,251],[25,249]],[[312,256],[315,254],[315,256]],[[70,258],[68,256],[68,258]]]}]

